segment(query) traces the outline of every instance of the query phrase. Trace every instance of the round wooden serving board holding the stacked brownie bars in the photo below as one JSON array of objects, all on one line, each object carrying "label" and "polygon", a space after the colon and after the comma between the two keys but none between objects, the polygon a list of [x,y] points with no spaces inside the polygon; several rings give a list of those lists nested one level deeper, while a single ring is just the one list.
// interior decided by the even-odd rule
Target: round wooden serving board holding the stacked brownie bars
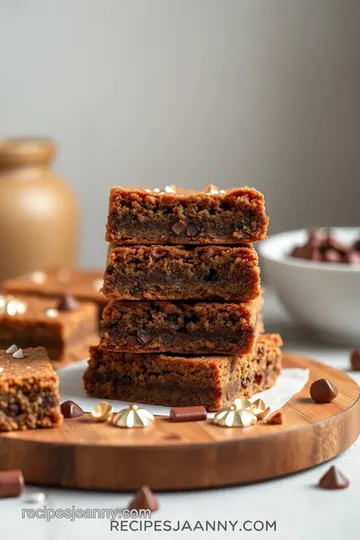
[{"label": "round wooden serving board holding the stacked brownie bars", "polygon": [[[282,409],[280,426],[229,429],[157,417],[146,429],[119,429],[85,414],[56,429],[1,435],[0,468],[22,469],[27,483],[120,491],[244,484],[312,467],[358,437],[360,389],[342,371],[307,358],[285,353],[284,367],[310,368],[310,380]],[[320,378],[338,387],[332,403],[309,398]]]}]

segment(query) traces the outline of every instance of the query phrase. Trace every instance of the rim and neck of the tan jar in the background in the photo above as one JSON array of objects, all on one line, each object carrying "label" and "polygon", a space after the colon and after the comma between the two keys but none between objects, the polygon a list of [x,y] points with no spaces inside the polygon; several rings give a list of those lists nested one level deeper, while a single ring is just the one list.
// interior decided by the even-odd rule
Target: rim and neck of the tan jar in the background
[{"label": "rim and neck of the tan jar in the background", "polygon": [[12,137],[0,139],[0,165],[49,163],[55,144],[47,138]]}]

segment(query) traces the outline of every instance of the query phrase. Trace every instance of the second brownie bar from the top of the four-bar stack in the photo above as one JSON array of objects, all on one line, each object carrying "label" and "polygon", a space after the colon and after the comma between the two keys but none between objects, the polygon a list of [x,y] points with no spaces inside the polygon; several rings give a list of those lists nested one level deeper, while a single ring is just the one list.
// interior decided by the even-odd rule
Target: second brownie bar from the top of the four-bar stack
[{"label": "second brownie bar from the top of the four-bar stack", "polygon": [[110,246],[103,293],[118,300],[249,301],[261,293],[251,246]]}]

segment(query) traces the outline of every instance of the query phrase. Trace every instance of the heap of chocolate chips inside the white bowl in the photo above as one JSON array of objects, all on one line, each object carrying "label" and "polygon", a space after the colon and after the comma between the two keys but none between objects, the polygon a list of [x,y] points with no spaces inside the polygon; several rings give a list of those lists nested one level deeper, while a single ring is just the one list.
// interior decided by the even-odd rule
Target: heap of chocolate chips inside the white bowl
[{"label": "heap of chocolate chips inside the white bowl", "polygon": [[308,261],[360,264],[360,239],[350,246],[346,246],[336,238],[331,230],[322,231],[311,228],[305,244],[296,246],[290,255]]}]

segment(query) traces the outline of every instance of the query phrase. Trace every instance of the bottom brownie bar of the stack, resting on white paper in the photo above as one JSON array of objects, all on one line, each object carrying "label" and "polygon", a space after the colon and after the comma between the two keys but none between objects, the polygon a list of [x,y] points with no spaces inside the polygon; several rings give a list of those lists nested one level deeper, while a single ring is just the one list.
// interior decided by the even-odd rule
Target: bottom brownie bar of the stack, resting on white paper
[{"label": "bottom brownie bar of the stack, resting on white paper", "polygon": [[86,392],[103,399],[216,411],[237,397],[270,388],[281,370],[281,338],[257,338],[247,356],[134,354],[91,347],[84,374]]}]

